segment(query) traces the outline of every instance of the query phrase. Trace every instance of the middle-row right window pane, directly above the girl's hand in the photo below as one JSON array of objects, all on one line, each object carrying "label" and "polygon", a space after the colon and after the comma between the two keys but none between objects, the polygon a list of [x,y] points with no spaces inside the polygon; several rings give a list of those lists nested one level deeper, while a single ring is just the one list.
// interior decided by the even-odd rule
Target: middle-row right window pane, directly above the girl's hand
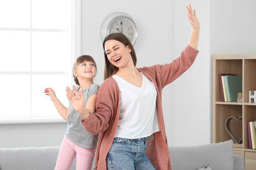
[{"label": "middle-row right window pane, directly above the girl's hand", "polygon": [[32,70],[67,71],[68,34],[51,32],[32,33]]}]

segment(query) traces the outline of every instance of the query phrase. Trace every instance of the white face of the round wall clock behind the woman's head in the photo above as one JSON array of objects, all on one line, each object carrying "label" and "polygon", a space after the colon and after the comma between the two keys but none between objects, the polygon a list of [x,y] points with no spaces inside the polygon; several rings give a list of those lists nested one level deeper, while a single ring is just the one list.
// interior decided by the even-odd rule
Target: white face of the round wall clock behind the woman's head
[{"label": "white face of the round wall clock behind the woman's head", "polygon": [[111,33],[122,33],[126,35],[132,44],[135,43],[137,38],[136,26],[128,17],[113,18],[107,29],[107,34]]}]

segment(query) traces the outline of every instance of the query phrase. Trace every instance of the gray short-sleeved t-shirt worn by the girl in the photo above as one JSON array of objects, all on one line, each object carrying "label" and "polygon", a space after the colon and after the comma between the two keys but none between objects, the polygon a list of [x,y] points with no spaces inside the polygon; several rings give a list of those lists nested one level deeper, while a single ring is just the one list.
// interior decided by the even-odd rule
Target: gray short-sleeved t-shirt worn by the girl
[{"label": "gray short-sleeved t-shirt worn by the girl", "polygon": [[[80,86],[77,86],[76,89],[79,89]],[[89,99],[89,97],[98,93],[99,85],[91,84],[88,88],[82,90],[84,96],[84,106]],[[73,143],[87,149],[93,149],[96,147],[98,142],[99,135],[92,135],[87,132],[85,128],[81,124],[82,117],[73,109],[71,104],[69,103],[69,114],[67,117],[67,130],[65,135],[69,140]]]}]

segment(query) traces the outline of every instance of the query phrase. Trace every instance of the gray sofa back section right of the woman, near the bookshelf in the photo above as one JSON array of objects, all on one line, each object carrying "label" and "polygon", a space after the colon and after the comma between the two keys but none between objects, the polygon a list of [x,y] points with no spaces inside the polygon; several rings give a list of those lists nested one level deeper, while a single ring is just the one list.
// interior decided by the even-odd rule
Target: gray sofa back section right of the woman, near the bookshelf
[{"label": "gray sofa back section right of the woman, near the bookshelf", "polygon": [[169,147],[173,170],[198,170],[209,164],[211,170],[234,170],[233,141],[197,146]]}]

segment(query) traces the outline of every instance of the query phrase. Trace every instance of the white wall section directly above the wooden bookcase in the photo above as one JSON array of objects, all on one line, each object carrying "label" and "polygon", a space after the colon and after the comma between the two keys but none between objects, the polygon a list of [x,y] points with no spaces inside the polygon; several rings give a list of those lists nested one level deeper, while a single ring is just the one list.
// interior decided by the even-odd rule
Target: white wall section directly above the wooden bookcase
[{"label": "white wall section directly above the wooden bookcase", "polygon": [[210,53],[256,53],[256,0],[211,0]]}]

